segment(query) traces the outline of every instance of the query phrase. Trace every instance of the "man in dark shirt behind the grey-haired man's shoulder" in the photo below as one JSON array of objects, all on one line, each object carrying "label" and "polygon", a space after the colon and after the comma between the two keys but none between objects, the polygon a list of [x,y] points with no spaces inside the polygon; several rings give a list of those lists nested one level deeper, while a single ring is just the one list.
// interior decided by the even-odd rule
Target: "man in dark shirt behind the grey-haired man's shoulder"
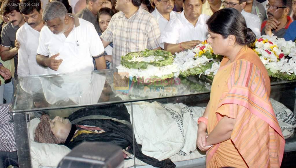
[{"label": "man in dark shirt behind the grey-haired man's shoulder", "polygon": [[96,32],[101,32],[97,14],[101,8],[106,7],[105,0],[86,0],[86,7],[79,11],[76,16],[94,24]]}]

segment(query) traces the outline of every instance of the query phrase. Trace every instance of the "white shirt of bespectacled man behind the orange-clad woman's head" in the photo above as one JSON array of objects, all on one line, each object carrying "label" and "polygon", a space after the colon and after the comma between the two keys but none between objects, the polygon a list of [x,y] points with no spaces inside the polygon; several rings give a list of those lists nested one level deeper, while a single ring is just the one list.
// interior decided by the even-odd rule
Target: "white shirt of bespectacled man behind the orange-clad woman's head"
[{"label": "white shirt of bespectacled man behind the orange-clad woman's head", "polygon": [[252,29],[252,31],[255,33],[256,37],[260,37],[261,36],[260,18],[255,14],[251,14],[249,12],[244,11],[244,9],[242,10],[241,14],[244,17],[244,19],[246,20],[247,27]]}]

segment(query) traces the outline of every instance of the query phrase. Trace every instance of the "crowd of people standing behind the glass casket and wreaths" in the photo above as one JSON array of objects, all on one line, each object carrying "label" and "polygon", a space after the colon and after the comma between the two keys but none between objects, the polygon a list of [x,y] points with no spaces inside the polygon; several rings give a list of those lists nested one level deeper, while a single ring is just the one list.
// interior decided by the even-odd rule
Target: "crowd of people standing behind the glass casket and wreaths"
[{"label": "crowd of people standing behind the glass casket and wreaths", "polygon": [[191,49],[208,38],[206,21],[223,8],[237,9],[256,37],[295,39],[295,0],[86,0],[76,14],[67,0],[41,3],[1,2],[1,63],[12,72],[1,79],[6,103],[17,76],[115,69],[129,52]]}]

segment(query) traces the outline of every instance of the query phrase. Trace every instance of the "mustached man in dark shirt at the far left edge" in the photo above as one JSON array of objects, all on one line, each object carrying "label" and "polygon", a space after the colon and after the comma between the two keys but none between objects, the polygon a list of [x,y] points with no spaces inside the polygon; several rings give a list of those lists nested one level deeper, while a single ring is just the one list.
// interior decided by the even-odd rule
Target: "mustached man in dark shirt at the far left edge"
[{"label": "mustached man in dark shirt at the far left edge", "polygon": [[6,0],[2,6],[2,12],[9,20],[9,23],[3,27],[1,32],[1,50],[0,56],[3,61],[14,58],[15,62],[15,79],[17,79],[17,60],[18,60],[18,48],[15,46],[15,35],[17,30],[25,24],[25,20],[20,13],[19,0]]}]

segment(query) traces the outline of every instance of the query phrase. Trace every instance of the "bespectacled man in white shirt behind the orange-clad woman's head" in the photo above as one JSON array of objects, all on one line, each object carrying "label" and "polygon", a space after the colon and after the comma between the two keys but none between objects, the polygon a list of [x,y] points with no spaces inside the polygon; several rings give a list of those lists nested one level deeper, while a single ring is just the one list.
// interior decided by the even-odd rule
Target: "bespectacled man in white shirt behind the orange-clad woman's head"
[{"label": "bespectacled man in white shirt behind the orange-clad woman's head", "polygon": [[223,1],[223,5],[227,8],[231,7],[237,9],[241,12],[242,16],[246,20],[247,27],[250,28],[256,35],[256,37],[261,36],[261,21],[260,18],[249,12],[244,11],[244,7],[247,4],[247,0],[225,0]]}]

